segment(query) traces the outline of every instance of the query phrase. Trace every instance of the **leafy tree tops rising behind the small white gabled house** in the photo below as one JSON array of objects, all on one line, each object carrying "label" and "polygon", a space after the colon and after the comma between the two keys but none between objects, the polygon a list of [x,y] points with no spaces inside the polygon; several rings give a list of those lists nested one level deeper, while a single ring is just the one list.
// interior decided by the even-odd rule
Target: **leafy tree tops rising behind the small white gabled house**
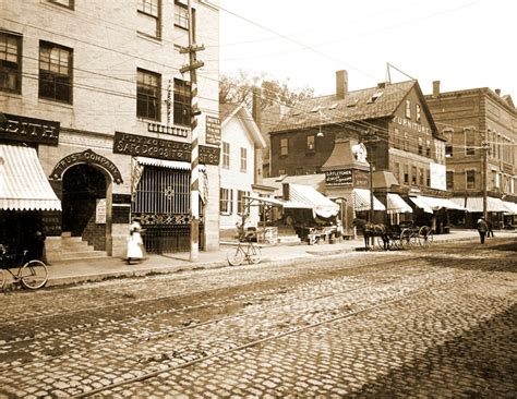
[{"label": "leafy tree tops rising behind the small white gabled house", "polygon": [[[219,101],[223,104],[244,102],[251,108],[253,87],[260,84],[262,88],[261,108],[265,109],[274,104],[294,105],[298,100],[311,98],[314,89],[310,87],[291,88],[289,78],[280,82],[265,77],[265,73],[250,75],[247,71],[239,71],[237,75],[221,75],[219,81]],[[260,83],[262,82],[262,83]]]}]

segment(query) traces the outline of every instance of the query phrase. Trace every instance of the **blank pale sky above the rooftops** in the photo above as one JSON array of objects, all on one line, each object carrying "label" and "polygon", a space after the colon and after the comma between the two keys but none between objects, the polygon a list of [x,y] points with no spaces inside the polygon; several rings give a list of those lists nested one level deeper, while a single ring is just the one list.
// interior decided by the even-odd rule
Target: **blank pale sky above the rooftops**
[{"label": "blank pale sky above the rooftops", "polygon": [[[424,94],[501,88],[517,102],[517,1],[219,0],[220,72],[335,93],[417,78]],[[408,77],[409,76],[409,77]]]}]

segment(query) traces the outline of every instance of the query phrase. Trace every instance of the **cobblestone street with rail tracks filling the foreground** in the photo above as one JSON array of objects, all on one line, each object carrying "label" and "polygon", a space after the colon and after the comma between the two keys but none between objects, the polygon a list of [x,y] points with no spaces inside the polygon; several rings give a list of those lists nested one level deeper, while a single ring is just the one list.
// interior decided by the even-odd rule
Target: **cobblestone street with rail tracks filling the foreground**
[{"label": "cobblestone street with rail tracks filling the foreground", "polygon": [[516,251],[495,239],[7,293],[0,396],[513,398]]}]

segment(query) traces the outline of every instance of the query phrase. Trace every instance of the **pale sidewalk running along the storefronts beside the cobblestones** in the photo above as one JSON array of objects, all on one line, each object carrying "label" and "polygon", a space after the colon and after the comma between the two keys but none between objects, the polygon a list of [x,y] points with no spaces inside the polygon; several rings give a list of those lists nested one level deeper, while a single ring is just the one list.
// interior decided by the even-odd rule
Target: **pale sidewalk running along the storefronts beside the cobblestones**
[{"label": "pale sidewalk running along the storefronts beside the cobblestones", "polygon": [[[495,231],[495,237],[517,238],[516,231]],[[449,234],[434,235],[434,243],[454,241],[478,241],[477,230],[453,230]],[[490,240],[490,239],[489,239]],[[479,242],[479,241],[478,241]],[[140,264],[128,265],[124,259],[107,257],[84,261],[58,261],[49,265],[49,280],[47,287],[71,285],[85,281],[100,281],[107,278],[145,276],[156,273],[175,273],[228,266],[226,259],[230,245],[221,244],[219,251],[200,251],[199,261],[191,263],[190,254],[151,254]],[[324,256],[357,251],[364,247],[362,237],[356,240],[346,240],[335,244],[318,245],[270,245],[262,246],[262,262],[296,261],[297,258]]]}]

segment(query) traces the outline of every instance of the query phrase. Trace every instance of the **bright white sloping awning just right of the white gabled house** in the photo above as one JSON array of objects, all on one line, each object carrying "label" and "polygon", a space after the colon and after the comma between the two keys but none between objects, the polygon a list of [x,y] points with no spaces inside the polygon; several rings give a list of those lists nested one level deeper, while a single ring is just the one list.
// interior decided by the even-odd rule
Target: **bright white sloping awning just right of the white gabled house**
[{"label": "bright white sloping awning just right of the white gabled house", "polygon": [[328,200],[325,195],[310,185],[289,184],[289,201],[286,208],[311,208],[315,216],[329,218],[339,213],[339,205]]}]

